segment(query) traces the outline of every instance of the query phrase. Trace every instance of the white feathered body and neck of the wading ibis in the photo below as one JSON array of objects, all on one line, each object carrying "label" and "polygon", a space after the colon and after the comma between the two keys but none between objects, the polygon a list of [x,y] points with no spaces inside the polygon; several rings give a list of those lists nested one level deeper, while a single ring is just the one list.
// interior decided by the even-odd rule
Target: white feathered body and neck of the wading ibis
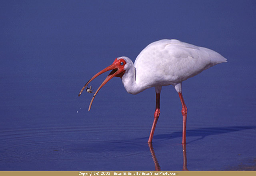
[{"label": "white feathered body and neck of the wading ibis", "polygon": [[[132,65],[129,58],[120,58]],[[150,87],[176,86],[221,62],[226,62],[226,59],[208,48],[163,39],[149,44],[140,52],[134,62],[135,69],[126,70],[129,74],[122,76],[122,82],[128,93],[138,94]]]}]

